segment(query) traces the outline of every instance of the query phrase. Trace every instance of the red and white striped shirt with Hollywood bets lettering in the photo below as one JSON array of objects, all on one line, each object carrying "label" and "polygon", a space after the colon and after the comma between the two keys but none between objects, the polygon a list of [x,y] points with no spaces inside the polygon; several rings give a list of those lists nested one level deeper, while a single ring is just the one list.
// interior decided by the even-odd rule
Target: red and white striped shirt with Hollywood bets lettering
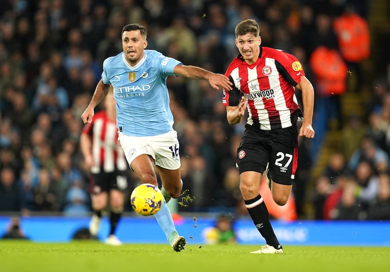
[{"label": "red and white striped shirt with Hollywood bets lettering", "polygon": [[261,130],[290,127],[301,115],[295,86],[304,75],[302,65],[293,55],[260,47],[254,64],[246,63],[241,55],[231,62],[225,76],[233,82],[233,90],[223,90],[222,103],[237,106],[244,96],[248,124]]}]

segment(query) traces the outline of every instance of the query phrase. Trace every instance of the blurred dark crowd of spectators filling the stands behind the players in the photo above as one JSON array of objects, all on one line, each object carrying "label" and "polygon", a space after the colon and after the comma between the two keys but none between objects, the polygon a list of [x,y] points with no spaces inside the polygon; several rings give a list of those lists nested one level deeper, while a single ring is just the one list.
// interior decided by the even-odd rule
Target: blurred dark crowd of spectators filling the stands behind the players
[{"label": "blurred dark crowd of spectators filling the stands behind the players", "polygon": [[[338,93],[320,92],[313,52],[325,46],[343,58],[333,22],[346,7],[368,23],[370,54],[342,59],[349,72],[338,79],[343,87]],[[293,187],[297,215],[390,220],[389,10],[386,0],[1,1],[0,212],[90,213],[80,116],[103,60],[122,51],[125,24],[147,27],[148,49],[223,74],[238,54],[236,23],[256,19],[262,46],[294,54],[316,92],[316,138],[301,139]],[[320,70],[331,71],[331,65],[324,62]],[[235,168],[244,123],[227,123],[222,92],[206,81],[169,77],[167,84],[183,189],[195,197],[188,207],[178,206],[179,212],[245,214]],[[346,96],[363,97],[362,103],[345,113]],[[337,140],[329,163],[314,175],[330,132]],[[137,178],[130,171],[129,180],[131,192]],[[126,211],[131,212],[128,200]]]}]

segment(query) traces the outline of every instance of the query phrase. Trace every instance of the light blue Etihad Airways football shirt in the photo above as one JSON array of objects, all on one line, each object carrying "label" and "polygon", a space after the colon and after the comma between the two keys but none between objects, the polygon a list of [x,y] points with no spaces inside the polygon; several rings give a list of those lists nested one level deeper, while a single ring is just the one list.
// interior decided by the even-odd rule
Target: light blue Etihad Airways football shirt
[{"label": "light blue Etihad Airways football shirt", "polygon": [[175,75],[177,64],[181,62],[155,50],[145,50],[135,66],[126,61],[124,52],[104,60],[101,78],[114,87],[119,132],[156,136],[173,130],[166,79]]}]

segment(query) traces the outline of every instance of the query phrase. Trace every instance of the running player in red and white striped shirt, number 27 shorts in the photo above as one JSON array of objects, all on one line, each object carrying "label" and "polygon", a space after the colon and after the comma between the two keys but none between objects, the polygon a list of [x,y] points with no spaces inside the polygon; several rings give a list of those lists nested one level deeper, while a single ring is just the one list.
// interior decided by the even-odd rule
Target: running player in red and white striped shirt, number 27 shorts
[{"label": "running player in red and white striped shirt, number 27 shorts", "polygon": [[[225,73],[233,83],[233,90],[224,90],[223,104],[232,125],[239,123],[248,109],[236,163],[245,207],[267,243],[251,253],[283,253],[259,194],[260,180],[266,173],[273,200],[278,205],[287,203],[297,168],[297,138],[314,137],[314,90],[299,60],[282,50],[260,46],[259,32],[253,19],[241,21],[235,27],[235,44],[240,54]],[[299,131],[297,120],[301,110],[295,88],[302,91],[304,109]]]}]

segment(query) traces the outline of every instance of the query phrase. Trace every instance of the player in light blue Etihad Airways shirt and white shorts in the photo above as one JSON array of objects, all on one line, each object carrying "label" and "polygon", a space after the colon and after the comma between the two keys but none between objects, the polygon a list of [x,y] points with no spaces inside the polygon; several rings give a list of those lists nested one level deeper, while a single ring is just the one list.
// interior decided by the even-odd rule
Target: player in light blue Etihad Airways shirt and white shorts
[{"label": "player in light blue Etihad Airways shirt and white shorts", "polygon": [[[169,108],[168,76],[206,79],[214,89],[231,90],[232,83],[224,75],[145,50],[147,32],[140,24],[128,24],[122,29],[123,52],[103,62],[102,79],[81,118],[91,122],[94,108],[113,86],[117,108],[118,140],[130,168],[142,183],[157,185],[154,166],[162,182],[164,203],[155,214],[172,248],[184,249],[186,239],[175,228],[166,204],[171,197],[180,196],[179,142],[173,129],[174,118]],[[191,45],[189,45],[191,46]]]}]

